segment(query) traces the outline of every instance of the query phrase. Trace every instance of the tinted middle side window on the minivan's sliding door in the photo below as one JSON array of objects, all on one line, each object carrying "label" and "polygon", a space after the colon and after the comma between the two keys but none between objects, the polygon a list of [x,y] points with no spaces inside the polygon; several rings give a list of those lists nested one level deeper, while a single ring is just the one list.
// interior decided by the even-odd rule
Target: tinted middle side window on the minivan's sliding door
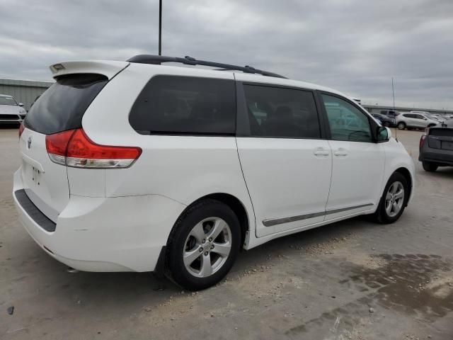
[{"label": "tinted middle side window on the minivan's sliding door", "polygon": [[320,125],[310,91],[279,87],[243,86],[250,136],[319,138]]}]

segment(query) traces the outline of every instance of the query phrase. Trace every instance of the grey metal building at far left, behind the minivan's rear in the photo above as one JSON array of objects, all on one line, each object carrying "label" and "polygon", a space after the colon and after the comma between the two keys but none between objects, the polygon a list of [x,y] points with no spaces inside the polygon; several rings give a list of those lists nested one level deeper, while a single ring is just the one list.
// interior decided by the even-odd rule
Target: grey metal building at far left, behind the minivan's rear
[{"label": "grey metal building at far left, behind the minivan's rear", "polygon": [[0,79],[0,94],[13,96],[18,103],[23,103],[23,107],[28,111],[36,97],[40,96],[52,84],[48,81]]}]

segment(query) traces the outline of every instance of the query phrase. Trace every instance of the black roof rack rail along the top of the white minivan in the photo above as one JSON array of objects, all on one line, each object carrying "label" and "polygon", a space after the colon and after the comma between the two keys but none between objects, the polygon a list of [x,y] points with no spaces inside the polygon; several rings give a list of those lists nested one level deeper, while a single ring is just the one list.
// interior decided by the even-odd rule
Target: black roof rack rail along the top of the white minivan
[{"label": "black roof rack rail along the top of the white minivan", "polygon": [[210,67],[218,67],[217,71],[226,71],[226,70],[236,70],[242,71],[244,73],[257,73],[263,74],[263,76],[267,77],[277,77],[277,78],[285,78],[280,76],[280,74],[275,74],[273,72],[263,71],[261,69],[256,69],[251,66],[236,66],[230,64],[222,64],[219,62],[207,62],[205,60],[196,60],[193,57],[189,57],[186,55],[183,58],[180,57],[166,57],[164,55],[136,55],[127,60],[127,62],[136,62],[139,64],[155,64],[160,65],[163,62],[179,62],[181,64],[186,65],[202,65],[202,66],[210,66]]}]

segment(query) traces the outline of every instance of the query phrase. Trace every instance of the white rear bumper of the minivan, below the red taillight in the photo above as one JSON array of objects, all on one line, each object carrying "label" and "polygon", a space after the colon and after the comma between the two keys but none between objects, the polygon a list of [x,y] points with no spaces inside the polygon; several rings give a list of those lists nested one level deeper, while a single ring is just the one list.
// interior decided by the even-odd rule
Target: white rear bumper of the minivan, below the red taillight
[{"label": "white rear bumper of the minivan, below the red taillight", "polygon": [[[23,189],[19,171],[13,192]],[[45,230],[13,193],[28,234],[58,261],[79,271],[154,271],[182,205],[159,195],[71,196],[55,231]]]}]

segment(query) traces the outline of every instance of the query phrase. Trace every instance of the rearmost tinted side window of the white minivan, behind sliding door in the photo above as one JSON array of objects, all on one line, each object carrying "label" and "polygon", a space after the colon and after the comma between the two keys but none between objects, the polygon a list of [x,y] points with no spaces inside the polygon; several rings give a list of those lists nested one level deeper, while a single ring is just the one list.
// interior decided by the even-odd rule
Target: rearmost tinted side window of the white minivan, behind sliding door
[{"label": "rearmost tinted side window of the white minivan, behind sliding door", "polygon": [[234,80],[153,77],[132,106],[129,122],[144,135],[234,135]]}]

